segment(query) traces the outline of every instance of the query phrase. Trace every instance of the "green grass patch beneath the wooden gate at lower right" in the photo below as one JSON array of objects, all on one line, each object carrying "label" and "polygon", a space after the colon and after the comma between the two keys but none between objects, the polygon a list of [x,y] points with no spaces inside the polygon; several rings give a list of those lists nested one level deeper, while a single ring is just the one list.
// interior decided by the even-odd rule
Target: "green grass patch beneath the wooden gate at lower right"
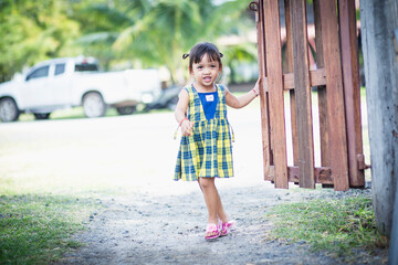
[{"label": "green grass patch beneath the wooden gate at lower right", "polygon": [[280,204],[266,220],[274,224],[270,239],[306,243],[314,252],[345,262],[355,258],[356,250],[388,247],[388,240],[377,232],[371,199],[365,195]]}]

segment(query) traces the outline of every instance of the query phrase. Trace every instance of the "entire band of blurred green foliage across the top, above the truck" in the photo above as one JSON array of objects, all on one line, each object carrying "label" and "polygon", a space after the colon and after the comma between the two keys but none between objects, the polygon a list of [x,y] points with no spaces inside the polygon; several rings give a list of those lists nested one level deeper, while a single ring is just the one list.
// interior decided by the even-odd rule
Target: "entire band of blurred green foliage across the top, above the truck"
[{"label": "entire band of blurred green foliage across the top, above the truck", "polygon": [[181,80],[181,54],[195,43],[240,33],[250,22],[254,28],[248,2],[239,0],[4,0],[0,7],[0,82],[39,61],[82,53],[105,70],[117,62],[166,66]]}]

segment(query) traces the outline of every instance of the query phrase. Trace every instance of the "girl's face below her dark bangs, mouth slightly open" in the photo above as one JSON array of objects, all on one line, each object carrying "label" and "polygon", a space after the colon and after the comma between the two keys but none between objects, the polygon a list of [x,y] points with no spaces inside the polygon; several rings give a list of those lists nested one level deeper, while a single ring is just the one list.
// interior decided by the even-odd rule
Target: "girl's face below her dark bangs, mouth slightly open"
[{"label": "girl's face below her dark bangs, mouth slightly open", "polygon": [[193,63],[191,75],[195,76],[195,85],[201,89],[213,89],[218,74],[222,65],[218,61],[210,61],[208,54],[205,54],[199,63]]}]

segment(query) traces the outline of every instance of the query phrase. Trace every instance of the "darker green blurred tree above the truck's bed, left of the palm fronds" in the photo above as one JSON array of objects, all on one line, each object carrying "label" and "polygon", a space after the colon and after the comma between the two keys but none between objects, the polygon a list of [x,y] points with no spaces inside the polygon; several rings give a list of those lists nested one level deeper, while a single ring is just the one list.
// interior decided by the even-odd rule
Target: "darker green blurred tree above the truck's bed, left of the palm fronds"
[{"label": "darker green blurred tree above the truck's bed, left of the palm fronds", "polygon": [[130,24],[137,24],[151,7],[148,0],[85,0],[73,4],[72,18],[81,24],[82,36],[76,44],[83,53],[95,56],[105,70],[112,62],[130,59],[130,51],[112,49],[121,32]]}]

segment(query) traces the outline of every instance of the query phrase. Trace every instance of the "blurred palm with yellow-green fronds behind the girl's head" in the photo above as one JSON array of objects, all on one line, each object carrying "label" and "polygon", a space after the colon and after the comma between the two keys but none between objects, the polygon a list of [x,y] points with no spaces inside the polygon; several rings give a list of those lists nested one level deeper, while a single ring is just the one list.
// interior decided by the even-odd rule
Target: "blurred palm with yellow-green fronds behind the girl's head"
[{"label": "blurred palm with yellow-green fronds behind the girl's head", "polygon": [[186,72],[181,55],[200,41],[216,42],[220,35],[240,32],[247,24],[245,9],[247,2],[238,0],[220,6],[210,0],[158,0],[142,20],[121,32],[112,47],[126,56],[130,52],[132,60],[139,55],[144,63],[165,65],[172,81],[181,81]]}]

